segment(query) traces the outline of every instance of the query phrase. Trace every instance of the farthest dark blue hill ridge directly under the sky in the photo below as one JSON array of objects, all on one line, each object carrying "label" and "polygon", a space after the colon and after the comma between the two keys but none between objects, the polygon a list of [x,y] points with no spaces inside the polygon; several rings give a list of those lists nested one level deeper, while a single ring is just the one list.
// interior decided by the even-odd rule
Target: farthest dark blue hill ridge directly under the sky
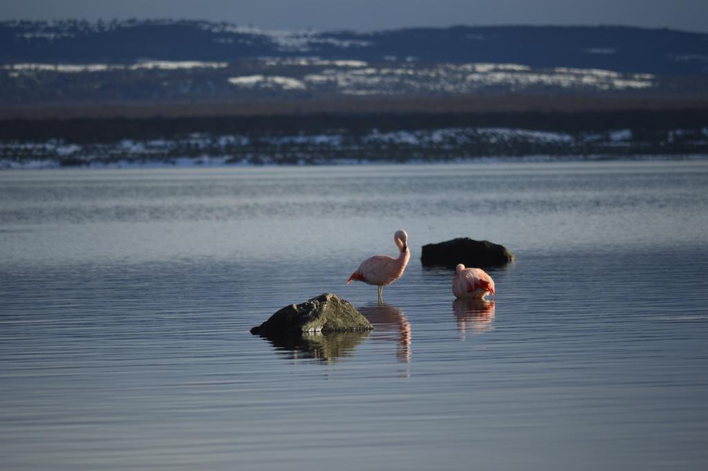
[{"label": "farthest dark blue hill ridge directly under the sky", "polygon": [[455,26],[357,33],[263,31],[207,21],[0,23],[0,64],[130,64],[146,58],[234,62],[302,56],[708,75],[708,35],[619,26]]}]

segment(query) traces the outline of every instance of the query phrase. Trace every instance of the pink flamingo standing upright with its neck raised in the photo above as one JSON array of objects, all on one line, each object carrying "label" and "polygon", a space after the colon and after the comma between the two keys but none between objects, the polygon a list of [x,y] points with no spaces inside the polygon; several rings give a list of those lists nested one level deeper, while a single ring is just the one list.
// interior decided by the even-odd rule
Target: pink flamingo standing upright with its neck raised
[{"label": "pink flamingo standing upright with its neck raised", "polygon": [[355,281],[363,281],[367,285],[377,285],[379,287],[379,304],[383,302],[383,289],[394,281],[401,278],[408,261],[411,258],[411,251],[408,249],[408,234],[403,229],[396,231],[394,242],[399,248],[399,256],[394,259],[388,255],[375,255],[362,261],[359,268],[351,274],[346,284]]}]

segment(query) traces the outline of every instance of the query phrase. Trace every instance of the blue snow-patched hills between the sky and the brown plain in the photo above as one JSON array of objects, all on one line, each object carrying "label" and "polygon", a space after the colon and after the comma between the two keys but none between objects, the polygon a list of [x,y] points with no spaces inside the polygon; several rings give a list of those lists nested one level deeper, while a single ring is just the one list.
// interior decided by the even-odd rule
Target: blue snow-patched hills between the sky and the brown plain
[{"label": "blue snow-patched hills between the sky and the brown plain", "polygon": [[708,35],[625,27],[263,31],[207,21],[0,23],[0,105],[450,96],[705,98]]}]

